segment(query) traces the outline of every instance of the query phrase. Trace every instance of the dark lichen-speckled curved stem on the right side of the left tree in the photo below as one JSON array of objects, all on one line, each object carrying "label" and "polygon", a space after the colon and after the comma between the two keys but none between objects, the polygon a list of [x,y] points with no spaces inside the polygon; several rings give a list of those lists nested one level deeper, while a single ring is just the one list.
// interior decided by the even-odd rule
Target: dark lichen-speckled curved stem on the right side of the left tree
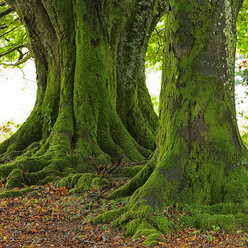
[{"label": "dark lichen-speckled curved stem on the right side of the left tree", "polygon": [[[140,1],[141,2],[141,1]],[[154,149],[158,116],[145,84],[145,58],[151,33],[165,13],[165,4],[146,1],[133,9],[117,52],[117,111],[130,134]]]}]

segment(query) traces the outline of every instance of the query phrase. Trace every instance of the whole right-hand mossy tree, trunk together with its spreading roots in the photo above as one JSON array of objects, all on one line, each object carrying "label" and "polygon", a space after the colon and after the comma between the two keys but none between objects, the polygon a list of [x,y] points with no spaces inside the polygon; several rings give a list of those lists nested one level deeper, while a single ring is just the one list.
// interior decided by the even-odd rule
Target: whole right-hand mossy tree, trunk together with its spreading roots
[{"label": "whole right-hand mossy tree, trunk together with its spreading roots", "polygon": [[[184,223],[247,228],[247,148],[236,123],[235,28],[242,1],[168,1],[160,95],[161,120],[151,161],[110,197],[128,206],[94,223],[119,219],[128,234],[155,244],[175,227],[161,214],[198,206]],[[200,209],[199,206],[209,206]]]}]

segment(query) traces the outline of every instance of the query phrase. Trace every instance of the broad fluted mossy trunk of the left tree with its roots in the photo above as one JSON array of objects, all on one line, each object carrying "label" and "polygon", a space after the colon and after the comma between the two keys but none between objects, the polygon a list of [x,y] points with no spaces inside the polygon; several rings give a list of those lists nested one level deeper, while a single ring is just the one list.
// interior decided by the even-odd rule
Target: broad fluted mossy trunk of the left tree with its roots
[{"label": "broad fluted mossy trunk of the left tree with its roots", "polygon": [[[157,1],[148,2],[150,20]],[[137,161],[150,154],[142,146],[146,144],[128,132],[116,110],[118,47],[124,33],[132,36],[124,30],[136,7],[145,5],[138,0],[15,1],[30,36],[38,91],[30,117],[0,145],[1,161],[11,161],[0,168],[1,177],[13,174],[8,187],[16,186],[12,182],[43,183],[69,172],[92,170],[88,165],[97,161]],[[146,37],[146,32],[142,35]],[[136,92],[145,89],[144,82],[140,86],[135,79],[128,84],[134,84]],[[142,96],[149,106],[142,120],[146,126],[154,113],[147,89]],[[153,135],[155,122],[153,118]]]}]

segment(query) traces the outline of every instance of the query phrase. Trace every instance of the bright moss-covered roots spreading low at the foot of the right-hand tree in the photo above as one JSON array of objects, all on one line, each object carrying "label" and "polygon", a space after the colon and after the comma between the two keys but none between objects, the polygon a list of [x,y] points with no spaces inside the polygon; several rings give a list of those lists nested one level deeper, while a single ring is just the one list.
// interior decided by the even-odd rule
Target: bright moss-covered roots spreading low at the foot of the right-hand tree
[{"label": "bright moss-covered roots spreading low at the foot of the right-hand tree", "polygon": [[[166,208],[167,209],[167,208]],[[140,238],[145,236],[144,244],[157,245],[161,235],[181,228],[202,230],[248,230],[248,202],[242,204],[221,203],[212,206],[181,205],[173,208],[170,220],[163,211],[154,212],[148,205],[134,209],[131,201],[128,206],[108,211],[93,219],[93,224],[110,223],[125,230],[128,236]]]}]

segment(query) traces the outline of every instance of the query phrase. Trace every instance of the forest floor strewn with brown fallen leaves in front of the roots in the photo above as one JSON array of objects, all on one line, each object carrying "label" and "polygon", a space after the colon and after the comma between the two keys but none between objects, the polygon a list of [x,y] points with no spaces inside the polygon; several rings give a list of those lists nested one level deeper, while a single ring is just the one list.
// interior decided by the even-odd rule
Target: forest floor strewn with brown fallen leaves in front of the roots
[{"label": "forest floor strewn with brown fallen leaves in front of the roots", "polygon": [[[92,189],[81,195],[47,184],[34,186],[34,191],[21,197],[0,199],[0,247],[146,247],[145,237],[134,240],[110,224],[91,224],[98,214],[123,205],[106,197],[126,181],[115,179],[108,191]],[[248,247],[248,234],[187,227],[162,235],[155,247]]]}]

